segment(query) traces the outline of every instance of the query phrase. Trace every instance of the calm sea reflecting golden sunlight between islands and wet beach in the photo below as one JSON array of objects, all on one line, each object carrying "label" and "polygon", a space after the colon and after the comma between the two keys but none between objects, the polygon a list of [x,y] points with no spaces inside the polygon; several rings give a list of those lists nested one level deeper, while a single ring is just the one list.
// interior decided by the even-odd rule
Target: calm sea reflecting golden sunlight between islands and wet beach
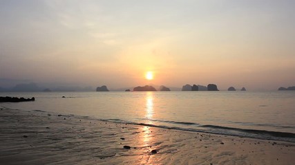
[{"label": "calm sea reflecting golden sunlight between islands and wet beach", "polygon": [[[294,91],[156,91],[0,93],[35,102],[0,107],[295,142]],[[61,98],[66,96],[66,98]]]}]

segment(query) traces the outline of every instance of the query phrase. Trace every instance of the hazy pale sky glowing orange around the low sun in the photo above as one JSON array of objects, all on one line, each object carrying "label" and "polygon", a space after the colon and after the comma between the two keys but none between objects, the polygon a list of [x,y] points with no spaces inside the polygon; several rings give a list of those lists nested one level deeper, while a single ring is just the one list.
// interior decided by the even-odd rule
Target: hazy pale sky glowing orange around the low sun
[{"label": "hazy pale sky glowing orange around the low sun", "polygon": [[294,8],[292,0],[0,0],[0,87],[294,86]]}]

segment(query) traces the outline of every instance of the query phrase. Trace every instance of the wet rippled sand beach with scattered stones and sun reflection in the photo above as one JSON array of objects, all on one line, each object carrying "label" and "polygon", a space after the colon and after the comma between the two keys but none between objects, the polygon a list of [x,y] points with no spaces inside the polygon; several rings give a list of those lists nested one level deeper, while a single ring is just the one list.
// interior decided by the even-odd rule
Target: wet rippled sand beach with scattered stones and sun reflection
[{"label": "wet rippled sand beach with scattered stones and sun reflection", "polygon": [[289,142],[0,110],[0,164],[294,164],[294,155]]}]

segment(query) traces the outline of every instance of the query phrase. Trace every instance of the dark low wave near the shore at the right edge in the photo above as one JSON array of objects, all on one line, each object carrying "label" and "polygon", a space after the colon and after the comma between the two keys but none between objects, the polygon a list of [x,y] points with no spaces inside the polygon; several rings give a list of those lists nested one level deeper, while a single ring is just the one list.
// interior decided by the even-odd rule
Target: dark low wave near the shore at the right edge
[{"label": "dark low wave near the shore at the right edge", "polygon": [[278,132],[278,131],[265,131],[265,130],[256,130],[256,129],[238,129],[227,126],[215,126],[215,125],[203,125],[202,127],[212,128],[212,129],[225,129],[232,131],[241,131],[245,133],[254,133],[258,135],[271,135],[274,137],[292,137],[295,138],[295,133],[287,133],[287,132]]}]

